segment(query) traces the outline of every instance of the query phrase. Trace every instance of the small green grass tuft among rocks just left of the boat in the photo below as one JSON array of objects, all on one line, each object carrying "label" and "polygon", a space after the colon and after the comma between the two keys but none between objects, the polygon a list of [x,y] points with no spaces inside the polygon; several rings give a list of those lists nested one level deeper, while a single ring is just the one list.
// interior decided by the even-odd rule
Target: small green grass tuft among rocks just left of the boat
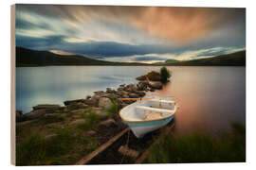
[{"label": "small green grass tuft among rocks just left of the boat", "polygon": [[82,114],[82,116],[86,121],[77,126],[79,129],[89,130],[96,127],[97,123],[100,122],[100,116],[93,110],[89,110],[87,114]]}]

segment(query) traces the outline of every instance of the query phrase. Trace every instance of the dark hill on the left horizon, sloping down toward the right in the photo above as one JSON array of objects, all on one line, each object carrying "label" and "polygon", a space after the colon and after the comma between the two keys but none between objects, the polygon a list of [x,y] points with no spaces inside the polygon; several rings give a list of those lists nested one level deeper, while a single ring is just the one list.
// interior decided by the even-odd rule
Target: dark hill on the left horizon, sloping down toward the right
[{"label": "dark hill on the left horizon, sloping down toward the right", "polygon": [[147,65],[137,62],[110,62],[90,59],[80,55],[59,55],[48,51],[37,51],[16,47],[16,67],[50,65]]}]

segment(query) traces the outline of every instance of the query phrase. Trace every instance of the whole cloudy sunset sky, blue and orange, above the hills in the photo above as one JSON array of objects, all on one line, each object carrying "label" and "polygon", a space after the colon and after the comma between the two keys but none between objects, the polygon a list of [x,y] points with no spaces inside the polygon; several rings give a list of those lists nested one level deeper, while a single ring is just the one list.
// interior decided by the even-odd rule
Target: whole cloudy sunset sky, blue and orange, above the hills
[{"label": "whole cloudy sunset sky, blue and orange, above the hills", "polygon": [[246,48],[245,8],[16,5],[16,45],[93,59],[200,59]]}]

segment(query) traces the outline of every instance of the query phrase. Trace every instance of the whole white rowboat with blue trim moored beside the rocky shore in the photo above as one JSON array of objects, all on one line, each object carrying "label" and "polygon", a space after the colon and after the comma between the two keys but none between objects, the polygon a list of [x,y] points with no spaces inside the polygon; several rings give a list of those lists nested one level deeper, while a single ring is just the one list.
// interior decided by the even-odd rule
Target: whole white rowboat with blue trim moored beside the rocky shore
[{"label": "whole white rowboat with blue trim moored beside the rocky shore", "polygon": [[137,138],[167,125],[174,118],[177,105],[174,97],[147,96],[119,111],[122,121]]}]

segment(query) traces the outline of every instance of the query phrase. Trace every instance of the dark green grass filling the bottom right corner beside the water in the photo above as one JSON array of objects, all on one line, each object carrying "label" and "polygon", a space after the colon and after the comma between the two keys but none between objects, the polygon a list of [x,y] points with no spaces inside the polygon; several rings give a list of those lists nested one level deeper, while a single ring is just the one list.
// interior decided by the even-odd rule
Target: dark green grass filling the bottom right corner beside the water
[{"label": "dark green grass filling the bottom right corner beside the water", "polygon": [[246,161],[246,128],[233,123],[233,131],[218,137],[195,133],[165,136],[154,144],[148,163]]}]

